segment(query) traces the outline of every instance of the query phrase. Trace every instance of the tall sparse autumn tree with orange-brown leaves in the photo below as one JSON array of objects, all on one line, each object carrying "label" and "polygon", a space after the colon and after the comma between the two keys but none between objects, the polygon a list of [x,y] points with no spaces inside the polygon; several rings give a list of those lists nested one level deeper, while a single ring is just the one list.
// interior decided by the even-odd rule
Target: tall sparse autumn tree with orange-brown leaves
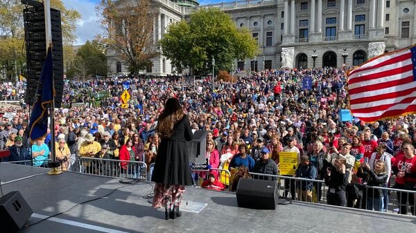
[{"label": "tall sparse autumn tree with orange-brown leaves", "polygon": [[152,36],[158,14],[153,1],[103,0],[97,12],[107,30],[108,47],[121,54],[130,72],[138,74],[159,54]]}]

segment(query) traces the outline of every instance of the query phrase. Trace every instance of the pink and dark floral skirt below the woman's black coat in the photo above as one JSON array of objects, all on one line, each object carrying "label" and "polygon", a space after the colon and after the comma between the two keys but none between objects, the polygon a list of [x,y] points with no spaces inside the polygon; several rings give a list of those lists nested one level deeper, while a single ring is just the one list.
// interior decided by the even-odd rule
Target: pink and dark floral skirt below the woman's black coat
[{"label": "pink and dark floral skirt below the woman's black coat", "polygon": [[185,186],[156,183],[154,191],[153,207],[155,209],[160,207],[171,208],[172,205],[180,206],[182,195],[185,192]]}]

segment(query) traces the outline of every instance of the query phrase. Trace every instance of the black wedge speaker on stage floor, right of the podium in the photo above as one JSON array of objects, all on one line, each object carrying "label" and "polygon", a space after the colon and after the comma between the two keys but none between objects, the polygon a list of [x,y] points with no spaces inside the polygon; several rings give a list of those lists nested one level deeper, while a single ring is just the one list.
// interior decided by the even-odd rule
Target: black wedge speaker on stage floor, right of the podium
[{"label": "black wedge speaker on stage floor, right of the podium", "polygon": [[236,196],[239,207],[276,209],[276,181],[240,178]]}]

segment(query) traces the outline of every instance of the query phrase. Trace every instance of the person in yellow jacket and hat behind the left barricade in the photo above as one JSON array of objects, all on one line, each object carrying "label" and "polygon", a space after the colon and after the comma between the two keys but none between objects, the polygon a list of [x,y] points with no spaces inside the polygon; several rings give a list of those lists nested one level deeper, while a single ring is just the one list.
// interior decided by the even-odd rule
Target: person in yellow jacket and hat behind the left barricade
[{"label": "person in yellow jacket and hat behind the left barricade", "polygon": [[100,143],[96,142],[94,140],[94,136],[92,136],[91,133],[87,133],[85,135],[85,142],[81,144],[80,146],[80,157],[85,157],[86,159],[83,160],[83,172],[92,174],[93,173],[93,167],[92,167],[92,160],[89,160],[87,158],[93,158],[96,153],[101,151],[101,145]]}]

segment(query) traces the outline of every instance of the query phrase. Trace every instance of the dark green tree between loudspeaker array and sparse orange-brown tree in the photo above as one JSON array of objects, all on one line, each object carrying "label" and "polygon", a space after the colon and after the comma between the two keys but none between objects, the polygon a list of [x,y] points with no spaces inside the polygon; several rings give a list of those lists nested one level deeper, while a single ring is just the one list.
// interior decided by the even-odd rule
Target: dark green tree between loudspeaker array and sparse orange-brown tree
[{"label": "dark green tree between loudspeaker array and sparse orange-brown tree", "polygon": [[98,41],[87,41],[77,53],[73,66],[67,72],[69,77],[78,76],[86,79],[92,75],[107,75],[107,57],[105,49]]}]

